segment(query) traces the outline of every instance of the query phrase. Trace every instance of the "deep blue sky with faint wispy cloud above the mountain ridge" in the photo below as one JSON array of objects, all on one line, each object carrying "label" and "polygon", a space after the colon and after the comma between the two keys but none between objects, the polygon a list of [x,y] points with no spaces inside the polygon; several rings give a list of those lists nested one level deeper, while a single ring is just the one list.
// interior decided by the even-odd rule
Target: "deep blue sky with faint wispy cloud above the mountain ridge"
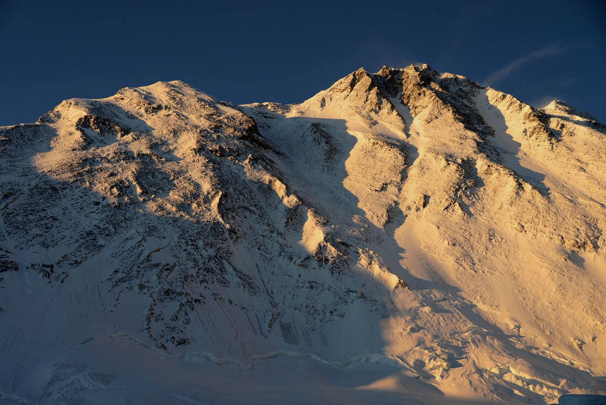
[{"label": "deep blue sky with faint wispy cloud above the mountain ridge", "polygon": [[176,79],[225,101],[300,102],[359,67],[421,62],[606,122],[604,4],[0,0],[0,125]]}]

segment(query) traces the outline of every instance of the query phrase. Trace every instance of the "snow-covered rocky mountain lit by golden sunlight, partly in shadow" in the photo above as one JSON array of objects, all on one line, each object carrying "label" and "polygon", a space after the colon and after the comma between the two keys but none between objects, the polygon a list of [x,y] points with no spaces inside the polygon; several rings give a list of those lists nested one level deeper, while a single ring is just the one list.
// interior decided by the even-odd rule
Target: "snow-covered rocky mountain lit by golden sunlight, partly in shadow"
[{"label": "snow-covered rocky mountain lit by golden sunlight, partly in shadow", "polygon": [[0,401],[606,390],[606,127],[427,65],[0,128]]}]

